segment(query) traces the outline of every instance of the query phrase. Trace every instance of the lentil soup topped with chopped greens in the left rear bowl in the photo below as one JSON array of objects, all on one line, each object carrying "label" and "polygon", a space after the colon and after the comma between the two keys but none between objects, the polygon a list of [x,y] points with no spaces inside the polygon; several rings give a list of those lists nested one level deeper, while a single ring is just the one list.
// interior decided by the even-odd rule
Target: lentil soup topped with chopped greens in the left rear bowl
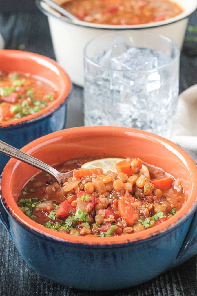
[{"label": "lentil soup topped with chopped greens in the left rear bowl", "polygon": [[0,124],[35,114],[56,99],[55,89],[41,78],[0,72]]}]

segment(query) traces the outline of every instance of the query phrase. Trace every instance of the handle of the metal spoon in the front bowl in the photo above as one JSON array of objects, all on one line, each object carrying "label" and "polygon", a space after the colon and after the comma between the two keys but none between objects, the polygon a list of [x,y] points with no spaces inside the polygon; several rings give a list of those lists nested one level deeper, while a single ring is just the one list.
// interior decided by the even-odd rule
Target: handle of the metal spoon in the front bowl
[{"label": "handle of the metal spoon in the front bowl", "polygon": [[0,152],[11,157],[14,157],[18,160],[21,160],[24,163],[28,163],[29,165],[34,166],[40,170],[45,171],[46,173],[52,175],[56,179],[58,179],[58,175],[60,174],[56,169],[52,168],[50,165],[43,163],[42,161],[38,160],[27,153],[20,151],[19,149],[0,141]]}]

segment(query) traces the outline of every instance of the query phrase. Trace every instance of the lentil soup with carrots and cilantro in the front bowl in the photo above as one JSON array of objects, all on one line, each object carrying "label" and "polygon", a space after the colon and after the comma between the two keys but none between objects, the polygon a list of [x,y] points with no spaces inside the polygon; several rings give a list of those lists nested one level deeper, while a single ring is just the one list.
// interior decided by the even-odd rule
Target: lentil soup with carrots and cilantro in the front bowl
[{"label": "lentil soup with carrots and cilantro in the front bowl", "polygon": [[116,163],[116,172],[102,168],[79,169],[98,159],[84,157],[56,166],[75,170],[58,183],[46,173],[31,178],[19,194],[18,206],[43,226],[80,236],[109,237],[154,227],[175,215],[185,203],[181,180],[138,158]]}]

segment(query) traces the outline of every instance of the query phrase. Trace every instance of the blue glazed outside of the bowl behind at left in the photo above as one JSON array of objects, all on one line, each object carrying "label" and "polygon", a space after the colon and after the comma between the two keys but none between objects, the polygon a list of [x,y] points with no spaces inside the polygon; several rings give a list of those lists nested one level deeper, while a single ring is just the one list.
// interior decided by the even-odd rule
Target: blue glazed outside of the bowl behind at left
[{"label": "blue glazed outside of the bowl behind at left", "polygon": [[[41,136],[62,130],[66,121],[66,105],[68,99],[69,97],[51,112],[38,118],[27,120],[13,126],[0,127],[0,140],[20,149]],[[0,173],[9,159],[9,156],[0,153]]]}]

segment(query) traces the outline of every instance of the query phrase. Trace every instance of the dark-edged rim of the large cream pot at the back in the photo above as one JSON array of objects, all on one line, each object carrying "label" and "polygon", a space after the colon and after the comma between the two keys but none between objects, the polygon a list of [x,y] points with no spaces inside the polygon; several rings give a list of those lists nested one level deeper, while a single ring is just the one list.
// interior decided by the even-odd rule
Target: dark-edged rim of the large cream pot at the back
[{"label": "dark-edged rim of the large cream pot at the back", "polygon": [[[128,29],[144,29],[144,28],[156,28],[156,27],[161,27],[165,25],[169,25],[175,22],[178,22],[180,20],[183,20],[187,17],[189,17],[197,8],[197,0],[192,1],[193,6],[191,9],[183,8],[182,5],[180,6],[183,9],[183,12],[180,13],[179,15],[175,17],[171,17],[170,19],[159,21],[159,22],[152,22],[152,23],[147,23],[147,24],[140,24],[140,25],[105,25],[105,24],[97,24],[97,23],[91,23],[91,22],[84,22],[80,20],[69,20],[66,19],[66,17],[60,16],[59,13],[55,12],[53,9],[47,10],[46,7],[48,6],[47,4],[41,5],[40,2],[42,0],[35,0],[35,3],[38,7],[38,9],[43,12],[46,16],[49,17],[55,17],[57,20],[60,20],[62,22],[66,22],[70,25],[77,25],[85,28],[92,28],[92,29],[103,29],[103,30],[128,30]],[[178,3],[179,4],[179,3]],[[44,7],[43,7],[44,6]]]}]

